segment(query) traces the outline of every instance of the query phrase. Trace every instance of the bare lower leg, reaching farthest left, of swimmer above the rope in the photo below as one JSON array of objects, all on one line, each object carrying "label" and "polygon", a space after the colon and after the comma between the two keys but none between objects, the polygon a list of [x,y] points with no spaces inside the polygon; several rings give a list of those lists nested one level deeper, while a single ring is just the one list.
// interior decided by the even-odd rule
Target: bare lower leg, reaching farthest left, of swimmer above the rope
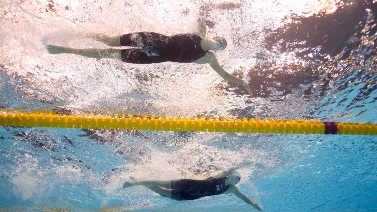
[{"label": "bare lower leg, reaching farthest left, of swimmer above the rope", "polygon": [[73,53],[91,58],[113,58],[121,60],[121,50],[118,49],[72,49],[67,47],[59,47],[48,45],[47,51],[51,54]]}]

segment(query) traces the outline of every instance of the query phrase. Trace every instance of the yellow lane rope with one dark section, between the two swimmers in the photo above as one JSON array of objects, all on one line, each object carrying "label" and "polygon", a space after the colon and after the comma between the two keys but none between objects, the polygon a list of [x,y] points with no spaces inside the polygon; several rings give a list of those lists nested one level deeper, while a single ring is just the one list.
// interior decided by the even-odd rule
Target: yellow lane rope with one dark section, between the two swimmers
[{"label": "yellow lane rope with one dark section, between the two swimmers", "polygon": [[0,126],[176,132],[377,135],[377,125],[371,123],[358,124],[246,118],[151,118],[147,116],[66,115],[53,112],[17,111],[0,111]]}]

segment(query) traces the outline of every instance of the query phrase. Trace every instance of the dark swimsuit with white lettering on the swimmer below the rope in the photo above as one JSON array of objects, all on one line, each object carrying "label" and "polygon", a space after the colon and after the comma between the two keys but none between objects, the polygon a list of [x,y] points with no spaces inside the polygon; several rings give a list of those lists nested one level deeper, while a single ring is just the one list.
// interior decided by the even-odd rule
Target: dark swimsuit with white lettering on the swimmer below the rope
[{"label": "dark swimsuit with white lettering on the swimmer below the rope", "polygon": [[171,181],[171,198],[174,200],[193,200],[222,194],[229,188],[229,185],[225,185],[225,179],[209,177],[205,180],[173,180]]}]

